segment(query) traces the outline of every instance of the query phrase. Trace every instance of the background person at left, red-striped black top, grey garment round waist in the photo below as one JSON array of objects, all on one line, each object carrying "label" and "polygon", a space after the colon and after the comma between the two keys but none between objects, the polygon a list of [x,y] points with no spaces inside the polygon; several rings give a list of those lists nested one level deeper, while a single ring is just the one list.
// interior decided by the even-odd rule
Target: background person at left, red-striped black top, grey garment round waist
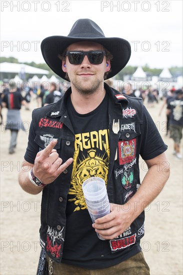
[{"label": "background person at left, red-striped black top, grey garment round waist", "polygon": [[5,129],[9,129],[11,132],[9,153],[14,153],[16,147],[17,134],[20,129],[24,130],[23,124],[20,118],[21,105],[26,106],[26,101],[23,99],[21,93],[17,91],[17,84],[13,81],[9,83],[9,92],[5,93],[2,98],[2,107],[6,107],[7,118]]}]

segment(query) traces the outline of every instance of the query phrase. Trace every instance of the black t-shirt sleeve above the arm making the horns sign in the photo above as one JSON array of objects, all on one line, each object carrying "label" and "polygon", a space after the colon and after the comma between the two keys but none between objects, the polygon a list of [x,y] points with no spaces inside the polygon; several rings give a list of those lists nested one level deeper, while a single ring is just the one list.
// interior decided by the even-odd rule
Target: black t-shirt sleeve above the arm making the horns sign
[{"label": "black t-shirt sleeve above the arm making the horns sign", "polygon": [[34,141],[36,133],[34,130],[35,121],[33,119],[33,116],[34,116],[33,114],[34,114],[34,110],[32,111],[32,121],[30,123],[28,144],[27,144],[25,155],[24,155],[24,159],[32,164],[34,163],[35,156],[36,156],[37,152],[39,151],[39,147]]}]

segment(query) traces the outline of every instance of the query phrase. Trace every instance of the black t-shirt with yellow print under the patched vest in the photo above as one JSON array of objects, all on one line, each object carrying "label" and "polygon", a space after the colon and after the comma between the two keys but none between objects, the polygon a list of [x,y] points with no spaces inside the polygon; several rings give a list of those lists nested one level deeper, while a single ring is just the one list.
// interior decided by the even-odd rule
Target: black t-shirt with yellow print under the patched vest
[{"label": "black t-shirt with yellow print under the patched vest", "polygon": [[[66,233],[62,262],[85,268],[104,268],[121,261],[121,253],[111,253],[109,242],[100,240],[86,208],[82,182],[89,176],[100,176],[107,182],[108,96],[99,106],[86,114],[79,114],[67,102],[67,110],[75,133],[73,171],[66,205]],[[82,123],[80,121],[82,120]],[[93,122],[94,121],[94,122]],[[130,247],[131,248],[131,247]],[[135,254],[137,247],[134,247]],[[129,257],[126,249],[126,258]],[[122,260],[125,256],[122,257]]]}]

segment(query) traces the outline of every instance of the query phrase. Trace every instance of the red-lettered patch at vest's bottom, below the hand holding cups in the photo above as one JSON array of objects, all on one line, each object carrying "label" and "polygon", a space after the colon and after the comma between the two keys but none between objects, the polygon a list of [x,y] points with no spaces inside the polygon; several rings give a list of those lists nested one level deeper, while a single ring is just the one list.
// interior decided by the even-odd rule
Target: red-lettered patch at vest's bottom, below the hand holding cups
[{"label": "red-lettered patch at vest's bottom, below the hand holding cups", "polygon": [[121,250],[121,249],[124,249],[124,248],[134,244],[135,241],[136,241],[136,233],[131,236],[128,236],[128,237],[112,239],[109,241],[110,249],[111,249],[111,251]]}]

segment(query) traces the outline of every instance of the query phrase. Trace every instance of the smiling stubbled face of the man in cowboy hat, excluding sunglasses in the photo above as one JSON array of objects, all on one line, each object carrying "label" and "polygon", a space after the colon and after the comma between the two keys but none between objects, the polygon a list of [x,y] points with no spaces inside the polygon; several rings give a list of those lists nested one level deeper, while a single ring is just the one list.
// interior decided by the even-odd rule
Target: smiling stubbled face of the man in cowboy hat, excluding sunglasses
[{"label": "smiling stubbled face of the man in cowboy hat, excluding sunglasses", "polygon": [[[67,50],[103,50],[103,46],[99,43],[83,41],[70,44]],[[71,87],[82,94],[92,94],[102,87],[103,75],[109,69],[110,61],[106,61],[105,56],[101,64],[91,64],[86,55],[78,65],[70,64],[67,56],[65,61],[62,60],[62,70],[67,72]]]}]

